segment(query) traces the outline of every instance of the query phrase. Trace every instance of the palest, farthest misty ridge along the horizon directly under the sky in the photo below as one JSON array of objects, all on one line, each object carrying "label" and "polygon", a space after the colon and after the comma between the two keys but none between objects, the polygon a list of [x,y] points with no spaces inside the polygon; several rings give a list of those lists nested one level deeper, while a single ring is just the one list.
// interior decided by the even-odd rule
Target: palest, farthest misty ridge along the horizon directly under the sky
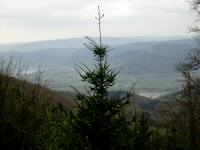
[{"label": "palest, farthest misty ridge along the horizon directly under the sky", "polygon": [[[147,42],[147,41],[167,41],[175,40],[180,37],[103,37],[103,42],[107,45],[119,46],[133,42]],[[98,38],[92,37],[98,41]],[[30,52],[44,49],[73,49],[83,48],[84,43],[87,42],[86,38],[71,38],[60,40],[47,40],[29,43],[13,43],[13,44],[0,44],[0,52],[17,51],[17,52]]]}]

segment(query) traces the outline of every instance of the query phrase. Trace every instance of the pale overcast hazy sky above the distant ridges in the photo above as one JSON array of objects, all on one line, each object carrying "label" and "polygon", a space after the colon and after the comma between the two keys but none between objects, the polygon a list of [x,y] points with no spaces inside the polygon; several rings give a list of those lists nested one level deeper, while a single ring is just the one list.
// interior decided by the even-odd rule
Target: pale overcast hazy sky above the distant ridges
[{"label": "pale overcast hazy sky above the distant ridges", "polygon": [[0,43],[96,36],[182,36],[194,23],[187,0],[0,0]]}]

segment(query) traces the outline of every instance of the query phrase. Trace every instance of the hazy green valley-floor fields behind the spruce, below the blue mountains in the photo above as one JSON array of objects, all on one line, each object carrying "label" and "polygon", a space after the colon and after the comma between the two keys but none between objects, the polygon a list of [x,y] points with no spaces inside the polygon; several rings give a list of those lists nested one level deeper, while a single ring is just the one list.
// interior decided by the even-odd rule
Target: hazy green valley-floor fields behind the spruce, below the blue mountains
[{"label": "hazy green valley-floor fields behind the spruce, below the blue mountains", "polygon": [[[76,72],[46,71],[45,79],[48,86],[54,90],[71,91],[71,85],[84,90],[87,85],[81,81]],[[181,76],[178,73],[148,73],[143,75],[131,75],[120,73],[117,76],[113,90],[129,90],[133,83],[136,84],[136,92],[176,92],[181,89]]]}]

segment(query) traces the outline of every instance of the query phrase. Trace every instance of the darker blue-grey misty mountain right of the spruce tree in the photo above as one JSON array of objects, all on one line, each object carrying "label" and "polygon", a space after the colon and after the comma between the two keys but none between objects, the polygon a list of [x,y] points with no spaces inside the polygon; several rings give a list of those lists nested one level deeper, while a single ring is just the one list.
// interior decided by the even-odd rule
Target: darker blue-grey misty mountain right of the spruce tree
[{"label": "darker blue-grey misty mountain right of the spruce tree", "polygon": [[193,40],[130,43],[117,47],[112,63],[120,64],[128,73],[168,73],[197,45]]}]

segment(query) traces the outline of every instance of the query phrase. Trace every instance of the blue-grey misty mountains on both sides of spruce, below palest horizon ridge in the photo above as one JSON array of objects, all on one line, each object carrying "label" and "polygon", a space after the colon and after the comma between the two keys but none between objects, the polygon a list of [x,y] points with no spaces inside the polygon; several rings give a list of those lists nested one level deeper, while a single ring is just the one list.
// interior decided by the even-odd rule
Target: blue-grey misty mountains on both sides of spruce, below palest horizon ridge
[{"label": "blue-grey misty mountains on both sides of spruce, below palest horizon ridge", "polygon": [[[74,63],[79,62],[88,65],[93,62],[92,54],[86,48],[60,48],[58,43],[64,44],[62,40],[53,41],[54,44],[50,43],[47,45],[43,42],[34,43],[34,51],[4,52],[1,55],[7,58],[10,56],[22,58],[25,63],[32,66],[42,64],[47,68],[57,69],[72,68]],[[57,48],[55,43],[58,44]],[[29,44],[25,44],[24,47]],[[32,45],[29,46],[33,50]],[[175,66],[184,58],[184,55],[195,46],[195,41],[192,39],[134,42],[112,47],[109,61],[114,67],[123,67],[125,73],[168,73],[173,72]],[[40,49],[36,49],[37,47]],[[42,47],[44,49],[41,49]]]}]

